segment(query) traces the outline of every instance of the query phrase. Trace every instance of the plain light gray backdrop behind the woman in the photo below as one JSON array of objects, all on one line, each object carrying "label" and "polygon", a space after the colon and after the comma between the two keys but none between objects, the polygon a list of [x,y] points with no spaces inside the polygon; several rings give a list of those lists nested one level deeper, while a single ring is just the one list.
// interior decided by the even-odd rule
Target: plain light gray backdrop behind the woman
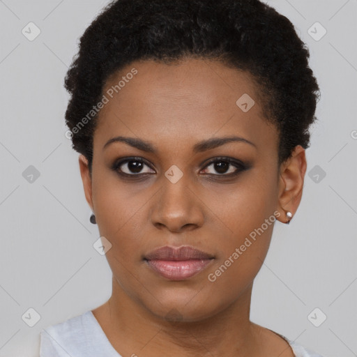
[{"label": "plain light gray backdrop behind the woman", "polygon": [[[251,318],[324,357],[357,356],[357,1],[266,2],[307,43],[321,100],[301,206],[289,226],[275,224]],[[63,119],[77,38],[106,3],[0,1],[0,356],[38,356],[42,328],[111,294]],[[29,22],[41,31],[33,41],[22,34]],[[315,22],[327,30],[320,40],[307,32]],[[40,314],[33,327],[29,308]]]}]

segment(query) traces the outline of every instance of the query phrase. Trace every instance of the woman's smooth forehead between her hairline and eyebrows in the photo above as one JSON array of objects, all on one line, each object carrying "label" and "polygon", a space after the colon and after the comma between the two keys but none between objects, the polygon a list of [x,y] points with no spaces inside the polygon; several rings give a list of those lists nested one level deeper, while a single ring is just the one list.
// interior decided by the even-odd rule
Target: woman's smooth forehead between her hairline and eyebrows
[{"label": "woman's smooth forehead between her hairline and eyebrows", "polygon": [[193,143],[236,134],[276,144],[258,91],[250,73],[218,61],[135,61],[107,79],[95,142],[128,135]]}]

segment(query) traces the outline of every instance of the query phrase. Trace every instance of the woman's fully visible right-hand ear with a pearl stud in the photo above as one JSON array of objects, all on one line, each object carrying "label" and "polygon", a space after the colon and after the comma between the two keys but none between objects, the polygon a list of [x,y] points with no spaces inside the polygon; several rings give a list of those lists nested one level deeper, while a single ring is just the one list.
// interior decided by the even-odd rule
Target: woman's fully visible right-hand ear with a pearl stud
[{"label": "woman's fully visible right-hand ear with a pearl stud", "polygon": [[278,194],[278,211],[280,212],[278,220],[280,222],[289,222],[287,212],[290,211],[294,217],[298,209],[303,195],[306,167],[305,149],[297,145],[291,158],[283,162],[280,167]]}]

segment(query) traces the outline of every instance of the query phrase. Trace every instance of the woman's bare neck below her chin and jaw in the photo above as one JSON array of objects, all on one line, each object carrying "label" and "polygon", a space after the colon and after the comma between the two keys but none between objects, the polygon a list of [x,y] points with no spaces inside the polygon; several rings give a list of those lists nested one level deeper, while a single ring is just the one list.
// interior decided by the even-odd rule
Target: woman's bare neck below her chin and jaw
[{"label": "woman's bare neck below her chin and jaw", "polygon": [[[149,294],[149,293],[148,293]],[[168,319],[133,301],[113,278],[102,328],[123,356],[257,356],[258,329],[250,321],[252,284],[231,305],[199,321]]]}]

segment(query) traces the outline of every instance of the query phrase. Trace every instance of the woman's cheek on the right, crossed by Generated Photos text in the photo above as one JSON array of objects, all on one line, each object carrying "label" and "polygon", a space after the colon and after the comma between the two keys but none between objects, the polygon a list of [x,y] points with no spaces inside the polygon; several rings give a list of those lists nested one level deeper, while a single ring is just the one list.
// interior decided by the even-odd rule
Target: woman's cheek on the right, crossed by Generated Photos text
[{"label": "woman's cheek on the right, crossed by Generated Photos text", "polygon": [[224,229],[216,241],[219,259],[207,278],[226,296],[238,294],[250,284],[263,264],[277,215],[276,192],[273,176],[259,173],[225,195],[211,195],[211,208],[218,213]]}]

